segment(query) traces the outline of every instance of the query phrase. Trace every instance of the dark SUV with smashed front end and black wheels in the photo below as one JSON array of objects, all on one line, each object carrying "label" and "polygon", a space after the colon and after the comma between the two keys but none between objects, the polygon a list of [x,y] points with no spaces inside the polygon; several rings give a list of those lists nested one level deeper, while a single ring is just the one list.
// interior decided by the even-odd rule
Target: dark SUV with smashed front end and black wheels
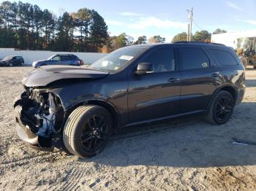
[{"label": "dark SUV with smashed front end and black wheels", "polygon": [[143,44],[111,52],[88,68],[42,66],[16,99],[20,139],[40,149],[60,136],[80,157],[99,153],[118,128],[203,114],[227,122],[245,92],[244,66],[222,44]]}]

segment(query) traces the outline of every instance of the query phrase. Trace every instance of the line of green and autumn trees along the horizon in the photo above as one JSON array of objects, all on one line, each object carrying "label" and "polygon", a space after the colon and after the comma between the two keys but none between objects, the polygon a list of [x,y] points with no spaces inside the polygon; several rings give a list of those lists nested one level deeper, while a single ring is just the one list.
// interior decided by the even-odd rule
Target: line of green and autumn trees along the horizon
[{"label": "line of green and autumn trees along the horizon", "polygon": [[[217,29],[214,34],[225,33]],[[194,41],[211,41],[208,31],[196,31]],[[20,50],[52,50],[67,52],[111,52],[132,44],[162,43],[162,36],[139,36],[133,39],[125,33],[108,34],[104,18],[94,9],[63,12],[57,17],[37,4],[3,1],[0,4],[0,47]],[[187,33],[173,37],[172,42],[187,41]]]}]

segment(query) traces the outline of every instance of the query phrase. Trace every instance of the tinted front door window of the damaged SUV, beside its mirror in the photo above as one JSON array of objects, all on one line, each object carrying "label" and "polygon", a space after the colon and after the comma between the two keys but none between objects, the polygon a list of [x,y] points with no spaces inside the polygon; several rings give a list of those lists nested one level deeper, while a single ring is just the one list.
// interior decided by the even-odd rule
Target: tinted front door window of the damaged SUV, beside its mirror
[{"label": "tinted front door window of the damaged SUV, beside its mirror", "polygon": [[151,63],[154,66],[154,72],[174,71],[175,58],[173,48],[162,48],[151,52],[143,61],[143,63]]}]

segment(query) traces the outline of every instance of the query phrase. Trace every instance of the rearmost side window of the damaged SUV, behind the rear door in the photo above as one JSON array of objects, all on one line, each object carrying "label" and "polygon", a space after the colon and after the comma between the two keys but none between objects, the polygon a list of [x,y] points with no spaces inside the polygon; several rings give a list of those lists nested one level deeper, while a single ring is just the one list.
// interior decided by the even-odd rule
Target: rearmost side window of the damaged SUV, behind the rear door
[{"label": "rearmost side window of the damaged SUV, behind the rear door", "polygon": [[233,57],[233,55],[230,54],[230,52],[227,52],[225,50],[217,50],[217,49],[211,49],[211,54],[214,55],[214,58],[217,59],[217,61],[221,65],[237,65],[236,59]]}]

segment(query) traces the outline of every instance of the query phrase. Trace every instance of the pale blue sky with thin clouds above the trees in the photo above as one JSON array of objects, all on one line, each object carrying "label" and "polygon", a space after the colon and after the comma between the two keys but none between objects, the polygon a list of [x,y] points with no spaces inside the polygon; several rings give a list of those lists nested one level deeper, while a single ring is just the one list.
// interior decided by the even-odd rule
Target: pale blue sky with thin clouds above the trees
[{"label": "pale blue sky with thin clouds above the trees", "polygon": [[[1,2],[2,0],[0,0]],[[12,0],[11,0],[12,1]],[[187,9],[193,7],[195,31],[245,31],[256,29],[256,0],[21,0],[49,9],[56,16],[86,7],[104,17],[111,36],[126,33],[138,36],[160,35],[170,42],[173,36],[187,31]]]}]

